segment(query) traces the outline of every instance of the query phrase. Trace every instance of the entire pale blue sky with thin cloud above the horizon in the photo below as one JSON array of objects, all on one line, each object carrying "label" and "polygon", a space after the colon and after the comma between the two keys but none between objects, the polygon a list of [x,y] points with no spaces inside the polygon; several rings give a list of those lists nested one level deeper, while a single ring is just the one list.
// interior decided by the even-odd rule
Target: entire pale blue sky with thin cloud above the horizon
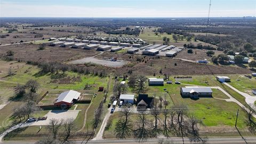
[{"label": "entire pale blue sky with thin cloud above the horizon", "polygon": [[[210,0],[0,0],[0,17],[208,17]],[[256,0],[212,0],[210,17],[256,17]]]}]

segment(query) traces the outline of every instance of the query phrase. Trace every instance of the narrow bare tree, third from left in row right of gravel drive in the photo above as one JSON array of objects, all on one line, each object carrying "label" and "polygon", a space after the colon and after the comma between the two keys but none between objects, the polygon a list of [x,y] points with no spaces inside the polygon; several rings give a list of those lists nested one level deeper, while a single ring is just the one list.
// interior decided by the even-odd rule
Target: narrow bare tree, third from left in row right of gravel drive
[{"label": "narrow bare tree, third from left in row right of gravel drive", "polygon": [[151,130],[151,135],[153,136],[153,137],[156,137],[157,136],[157,134],[159,134],[160,132],[161,132],[161,129],[159,129],[158,128],[158,126],[157,126],[157,122],[160,120],[160,114],[161,114],[161,112],[160,112],[160,110],[158,110],[158,109],[152,109],[151,111],[150,111],[150,114],[154,117],[154,125],[152,126],[153,128],[152,128],[152,130]]}]

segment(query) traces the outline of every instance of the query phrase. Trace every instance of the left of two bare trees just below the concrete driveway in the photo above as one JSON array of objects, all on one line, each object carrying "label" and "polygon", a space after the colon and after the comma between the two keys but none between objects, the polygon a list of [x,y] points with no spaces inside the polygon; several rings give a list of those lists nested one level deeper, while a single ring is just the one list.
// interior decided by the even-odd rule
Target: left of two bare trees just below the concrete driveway
[{"label": "left of two bare trees just below the concrete driveway", "polygon": [[58,119],[50,119],[49,124],[47,125],[48,131],[52,134],[53,139],[57,138],[57,134],[60,130],[60,126],[62,125],[62,121]]}]

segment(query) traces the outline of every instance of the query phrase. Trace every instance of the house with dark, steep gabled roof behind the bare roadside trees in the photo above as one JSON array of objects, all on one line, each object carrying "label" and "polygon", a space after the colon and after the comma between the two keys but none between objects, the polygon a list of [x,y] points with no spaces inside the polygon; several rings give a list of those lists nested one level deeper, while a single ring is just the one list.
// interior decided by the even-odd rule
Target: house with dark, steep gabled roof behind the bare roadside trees
[{"label": "house with dark, steep gabled roof behind the bare roadside trees", "polygon": [[154,107],[154,98],[148,97],[148,94],[139,94],[137,102],[137,110],[145,110]]}]

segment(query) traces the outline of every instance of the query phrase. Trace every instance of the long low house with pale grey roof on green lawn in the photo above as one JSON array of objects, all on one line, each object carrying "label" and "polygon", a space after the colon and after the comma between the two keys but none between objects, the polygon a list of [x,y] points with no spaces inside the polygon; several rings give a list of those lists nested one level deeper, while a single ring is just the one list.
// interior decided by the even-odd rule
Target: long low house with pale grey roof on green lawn
[{"label": "long low house with pale grey roof on green lawn", "polygon": [[182,97],[190,98],[212,97],[212,89],[210,87],[181,87],[180,94]]}]

